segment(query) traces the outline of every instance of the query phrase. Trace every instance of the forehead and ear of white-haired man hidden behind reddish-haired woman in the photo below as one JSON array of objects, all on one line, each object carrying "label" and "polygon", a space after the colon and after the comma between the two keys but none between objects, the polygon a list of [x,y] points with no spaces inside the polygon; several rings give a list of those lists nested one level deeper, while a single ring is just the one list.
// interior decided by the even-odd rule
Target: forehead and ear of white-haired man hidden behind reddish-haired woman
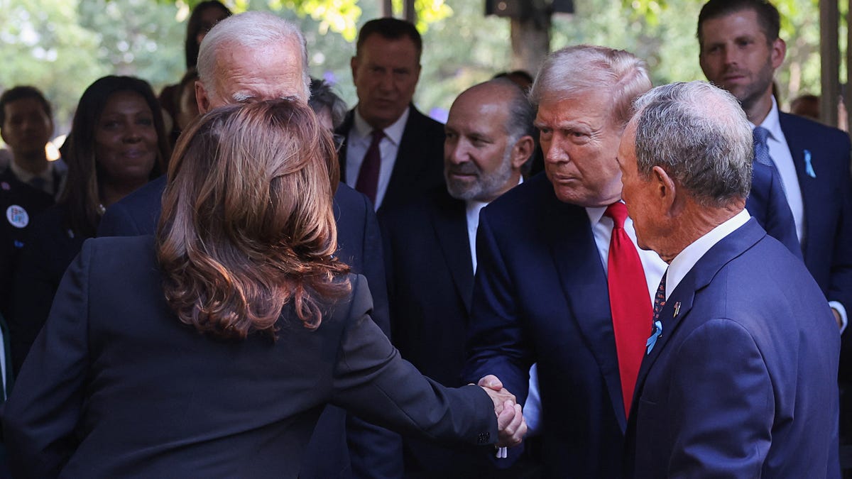
[{"label": "forehead and ear of white-haired man hidden behind reddish-haired woman", "polygon": [[222,45],[216,55],[213,91],[195,82],[199,113],[215,107],[250,101],[299,98],[307,102],[302,77],[301,48],[294,42],[248,49]]}]

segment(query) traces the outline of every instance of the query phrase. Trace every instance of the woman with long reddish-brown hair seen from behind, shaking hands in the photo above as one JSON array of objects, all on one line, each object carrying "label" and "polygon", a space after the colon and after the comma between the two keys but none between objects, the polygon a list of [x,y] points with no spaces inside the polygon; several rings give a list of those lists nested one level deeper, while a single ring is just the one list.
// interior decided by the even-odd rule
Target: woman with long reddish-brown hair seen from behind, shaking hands
[{"label": "woman with long reddish-brown hair seen from behind, shaking hands", "polygon": [[334,256],[338,176],[299,101],[191,125],[156,238],[88,240],[68,268],[6,403],[13,472],[296,477],[328,402],[435,441],[520,441],[507,391],[423,378],[372,322]]}]

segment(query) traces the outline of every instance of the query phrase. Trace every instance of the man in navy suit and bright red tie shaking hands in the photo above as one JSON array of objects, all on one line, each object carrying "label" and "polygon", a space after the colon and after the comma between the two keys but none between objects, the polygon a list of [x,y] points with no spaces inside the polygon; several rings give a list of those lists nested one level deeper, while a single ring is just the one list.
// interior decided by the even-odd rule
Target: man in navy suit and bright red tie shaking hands
[{"label": "man in navy suit and bright red tie shaking hands", "polygon": [[548,477],[621,474],[665,263],[636,249],[615,157],[633,100],[650,88],[645,62],[623,50],[550,54],[530,95],[546,176],[481,211],[463,376],[521,402],[538,362]]}]

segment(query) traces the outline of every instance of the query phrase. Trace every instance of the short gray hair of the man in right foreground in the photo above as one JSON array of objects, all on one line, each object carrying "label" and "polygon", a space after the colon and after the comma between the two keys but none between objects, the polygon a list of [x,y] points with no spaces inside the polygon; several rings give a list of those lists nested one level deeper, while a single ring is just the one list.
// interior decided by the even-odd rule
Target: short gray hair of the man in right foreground
[{"label": "short gray hair of the man in right foreground", "polygon": [[751,191],[751,124],[740,102],[706,82],[659,86],[635,103],[636,168],[661,166],[702,206],[723,207]]}]

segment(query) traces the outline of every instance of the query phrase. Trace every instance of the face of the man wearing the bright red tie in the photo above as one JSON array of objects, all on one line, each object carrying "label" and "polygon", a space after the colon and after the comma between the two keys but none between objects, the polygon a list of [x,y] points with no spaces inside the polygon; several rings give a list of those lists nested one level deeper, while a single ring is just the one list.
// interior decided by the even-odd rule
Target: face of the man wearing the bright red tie
[{"label": "face of the man wearing the bright red tie", "polygon": [[544,171],[556,197],[584,207],[611,205],[621,198],[621,172],[615,160],[621,129],[610,118],[605,91],[538,105]]}]

